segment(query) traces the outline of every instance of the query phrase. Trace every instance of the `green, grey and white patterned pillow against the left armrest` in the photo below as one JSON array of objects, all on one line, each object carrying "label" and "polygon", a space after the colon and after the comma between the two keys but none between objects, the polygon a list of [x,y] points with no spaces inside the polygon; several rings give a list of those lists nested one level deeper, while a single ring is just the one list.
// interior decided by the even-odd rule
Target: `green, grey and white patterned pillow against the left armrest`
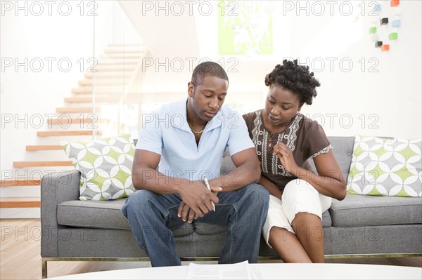
[{"label": "green, grey and white patterned pillow against the left armrest", "polygon": [[91,142],[60,142],[73,166],[81,172],[80,200],[122,199],[132,184],[134,144],[129,134]]}]

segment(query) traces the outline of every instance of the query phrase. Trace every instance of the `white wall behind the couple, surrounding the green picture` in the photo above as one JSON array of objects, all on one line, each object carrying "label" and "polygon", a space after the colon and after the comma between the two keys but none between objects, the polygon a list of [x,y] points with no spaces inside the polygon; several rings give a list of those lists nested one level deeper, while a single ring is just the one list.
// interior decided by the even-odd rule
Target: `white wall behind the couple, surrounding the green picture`
[{"label": "white wall behind the couple, surrounding the green picture", "polygon": [[[299,58],[314,67],[321,82],[314,103],[303,107],[302,112],[318,120],[327,135],[421,138],[421,1],[400,1],[402,26],[388,52],[374,47],[369,27],[381,17],[391,22],[390,1],[378,1],[383,7],[379,15],[373,11],[375,1],[331,1],[333,6],[328,2],[267,1],[273,21],[273,55],[219,55],[216,27],[220,10],[217,2],[212,2],[211,15],[195,13],[200,55],[194,57],[193,66],[202,58],[224,62],[230,79],[226,102],[240,103],[243,109],[259,109],[267,93],[264,76],[283,58]],[[321,6],[325,9],[322,14]],[[240,8],[236,12],[241,13]],[[154,7],[147,13],[162,15],[163,11]],[[148,30],[153,33],[154,29],[143,32]],[[179,30],[177,44],[191,47],[191,34],[184,32],[183,26],[172,30]],[[383,27],[382,32],[388,30]],[[186,95],[192,57],[172,53],[172,44],[175,42],[164,41],[160,53],[163,49],[167,52],[155,56],[153,65],[146,67],[141,92]],[[172,67],[172,60],[183,61],[183,71],[177,71],[179,64]],[[165,69],[158,63],[170,67]]]}]

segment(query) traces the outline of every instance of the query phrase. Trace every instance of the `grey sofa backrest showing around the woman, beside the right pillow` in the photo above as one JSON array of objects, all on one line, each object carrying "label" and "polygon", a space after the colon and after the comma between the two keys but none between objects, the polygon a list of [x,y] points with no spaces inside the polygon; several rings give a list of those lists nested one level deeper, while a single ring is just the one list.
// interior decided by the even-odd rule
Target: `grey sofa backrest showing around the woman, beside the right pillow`
[{"label": "grey sofa backrest showing around the woman, beside the right pillow", "polygon": [[[340,164],[343,176],[345,177],[345,180],[347,180],[347,176],[349,175],[350,162],[352,161],[354,136],[331,136],[328,137],[328,140],[330,140],[331,145],[333,146],[333,154],[335,159],[337,159],[338,164]],[[308,159],[308,162],[312,167],[312,170],[315,171],[316,168],[314,161],[312,159]],[[229,150],[226,149],[222,158],[221,174],[225,175],[232,171],[234,168],[236,168],[236,166],[234,166],[233,161],[231,161]]]}]

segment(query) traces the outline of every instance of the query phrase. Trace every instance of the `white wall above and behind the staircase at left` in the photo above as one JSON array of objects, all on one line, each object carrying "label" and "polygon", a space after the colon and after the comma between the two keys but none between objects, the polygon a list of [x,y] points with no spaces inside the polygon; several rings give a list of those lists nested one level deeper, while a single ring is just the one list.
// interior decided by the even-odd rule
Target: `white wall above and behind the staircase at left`
[{"label": "white wall above and behind the staircase at left", "polygon": [[[11,4],[5,6],[4,2]],[[41,6],[32,5],[34,2]],[[89,58],[95,55],[98,59],[109,44],[140,43],[134,30],[128,28],[129,22],[122,20],[121,8],[115,1],[98,1],[98,6],[93,5],[94,1],[85,1],[83,10],[80,1],[54,1],[56,4],[51,6],[51,15],[44,1],[34,2],[18,4],[24,8],[26,3],[27,15],[25,9],[16,9],[17,2],[2,1],[1,4],[1,60],[4,68],[1,69],[0,95],[2,170],[13,169],[13,161],[31,159],[31,154],[35,153],[25,152],[26,145],[57,143],[60,138],[37,138],[37,131],[49,129],[46,114],[55,114],[56,107],[65,106],[63,98],[72,96],[71,89],[78,87],[77,81],[84,79],[84,73],[92,65]],[[71,10],[65,16],[68,5]],[[44,8],[44,13],[36,16],[39,7]],[[96,15],[90,16],[91,13]],[[15,59],[25,62],[25,58],[27,69],[23,66],[15,69]],[[54,59],[51,71],[46,60],[49,58]],[[68,71],[60,69],[60,59],[72,63]],[[4,65],[3,62],[9,63],[10,60],[13,65]],[[37,60],[44,62],[41,71]],[[64,67],[67,67],[65,62]],[[44,117],[40,126],[38,116]],[[15,121],[25,117],[27,121]],[[58,129],[58,126],[53,128]],[[49,158],[52,152],[44,153]]]}]

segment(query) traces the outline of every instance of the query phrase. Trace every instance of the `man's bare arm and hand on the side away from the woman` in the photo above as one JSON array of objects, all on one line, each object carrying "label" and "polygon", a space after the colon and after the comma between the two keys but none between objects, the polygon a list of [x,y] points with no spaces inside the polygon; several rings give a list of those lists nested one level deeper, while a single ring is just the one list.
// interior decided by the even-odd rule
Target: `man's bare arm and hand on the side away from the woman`
[{"label": "man's bare arm and hand on the side away from the woman", "polygon": [[160,154],[136,149],[134,166],[132,168],[132,182],[136,189],[148,189],[157,194],[180,194],[181,199],[187,204],[198,217],[203,217],[212,210],[211,201],[218,203],[217,195],[222,189],[213,186],[208,191],[203,182],[189,181],[184,178],[172,178],[158,172]]}]

